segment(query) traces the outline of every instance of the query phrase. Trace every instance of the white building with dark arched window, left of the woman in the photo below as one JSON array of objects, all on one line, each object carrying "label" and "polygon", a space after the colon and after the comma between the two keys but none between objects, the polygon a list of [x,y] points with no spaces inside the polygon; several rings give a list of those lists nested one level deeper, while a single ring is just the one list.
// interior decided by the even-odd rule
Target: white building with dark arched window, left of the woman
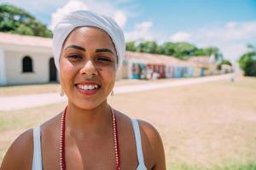
[{"label": "white building with dark arched window, left of the woman", "polygon": [[0,32],[0,85],[56,82],[52,39]]}]

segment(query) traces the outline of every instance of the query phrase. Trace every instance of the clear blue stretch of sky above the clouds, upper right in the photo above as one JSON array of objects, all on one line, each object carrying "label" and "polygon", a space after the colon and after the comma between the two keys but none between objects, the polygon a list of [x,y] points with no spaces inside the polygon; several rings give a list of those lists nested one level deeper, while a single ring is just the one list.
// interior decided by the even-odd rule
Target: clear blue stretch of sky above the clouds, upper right
[{"label": "clear blue stretch of sky above the clouds, upper right", "polygon": [[[191,31],[212,24],[256,20],[255,0],[140,1],[139,20],[153,20],[157,29]],[[148,13],[153,13],[147,15]]]}]

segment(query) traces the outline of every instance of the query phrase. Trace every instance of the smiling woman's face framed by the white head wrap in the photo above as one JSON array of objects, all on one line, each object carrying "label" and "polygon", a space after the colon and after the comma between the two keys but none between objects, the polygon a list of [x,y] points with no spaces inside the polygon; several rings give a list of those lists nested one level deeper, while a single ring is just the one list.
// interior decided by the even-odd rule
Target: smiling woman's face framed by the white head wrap
[{"label": "smiling woman's face framed by the white head wrap", "polygon": [[79,27],[67,37],[61,50],[60,75],[69,103],[82,109],[101,105],[113,89],[116,71],[117,54],[108,33]]}]

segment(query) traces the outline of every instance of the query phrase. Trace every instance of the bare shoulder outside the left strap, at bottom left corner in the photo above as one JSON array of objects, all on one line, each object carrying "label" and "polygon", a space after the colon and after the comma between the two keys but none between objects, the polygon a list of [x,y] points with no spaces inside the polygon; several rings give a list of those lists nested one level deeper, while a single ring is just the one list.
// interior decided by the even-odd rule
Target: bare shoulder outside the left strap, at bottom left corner
[{"label": "bare shoulder outside the left strap, at bottom left corner", "polygon": [[32,169],[33,133],[32,129],[15,139],[3,158],[1,170]]}]

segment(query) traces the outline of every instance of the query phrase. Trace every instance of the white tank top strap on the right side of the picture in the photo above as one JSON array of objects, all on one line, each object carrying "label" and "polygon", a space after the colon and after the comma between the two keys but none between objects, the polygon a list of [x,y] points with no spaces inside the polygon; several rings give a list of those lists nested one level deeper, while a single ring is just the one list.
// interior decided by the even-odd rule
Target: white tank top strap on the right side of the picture
[{"label": "white tank top strap on the right side of the picture", "polygon": [[138,167],[137,170],[143,170],[146,169],[144,164],[144,158],[143,158],[143,147],[142,147],[142,138],[141,138],[141,132],[140,127],[137,122],[137,119],[131,119],[133,131],[135,134],[135,140],[136,140],[136,148],[137,148],[137,160],[138,160]]}]

